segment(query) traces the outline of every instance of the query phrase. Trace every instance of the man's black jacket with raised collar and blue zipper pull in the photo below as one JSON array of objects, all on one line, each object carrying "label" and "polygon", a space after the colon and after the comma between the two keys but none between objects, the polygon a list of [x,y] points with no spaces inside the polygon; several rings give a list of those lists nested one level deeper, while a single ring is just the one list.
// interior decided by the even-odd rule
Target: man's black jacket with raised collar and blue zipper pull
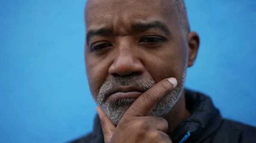
[{"label": "man's black jacket with raised collar and blue zipper pull", "polygon": [[[190,90],[185,90],[185,95],[191,116],[177,126],[173,143],[256,143],[255,127],[221,118],[206,95]],[[71,143],[104,143],[99,117],[92,133]]]}]

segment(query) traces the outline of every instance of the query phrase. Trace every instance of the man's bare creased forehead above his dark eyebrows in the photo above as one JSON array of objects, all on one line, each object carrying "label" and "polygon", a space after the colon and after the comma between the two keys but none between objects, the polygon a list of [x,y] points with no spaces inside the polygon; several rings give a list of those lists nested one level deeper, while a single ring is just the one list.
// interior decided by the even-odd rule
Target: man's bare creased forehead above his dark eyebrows
[{"label": "man's bare creased forehead above his dark eyebrows", "polygon": [[171,0],[88,0],[85,22],[88,28],[127,25],[136,21],[172,19]]}]

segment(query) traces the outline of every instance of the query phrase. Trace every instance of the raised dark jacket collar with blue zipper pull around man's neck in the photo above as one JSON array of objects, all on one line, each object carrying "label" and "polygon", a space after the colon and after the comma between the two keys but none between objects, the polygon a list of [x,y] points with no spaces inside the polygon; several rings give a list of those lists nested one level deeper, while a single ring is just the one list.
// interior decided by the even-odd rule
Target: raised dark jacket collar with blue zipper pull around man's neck
[{"label": "raised dark jacket collar with blue zipper pull around man's neck", "polygon": [[[173,143],[196,143],[204,140],[221,125],[221,116],[211,99],[201,93],[185,90],[186,107],[191,112],[172,134]],[[207,131],[207,132],[206,132]],[[99,116],[96,115],[91,143],[104,143]]]}]

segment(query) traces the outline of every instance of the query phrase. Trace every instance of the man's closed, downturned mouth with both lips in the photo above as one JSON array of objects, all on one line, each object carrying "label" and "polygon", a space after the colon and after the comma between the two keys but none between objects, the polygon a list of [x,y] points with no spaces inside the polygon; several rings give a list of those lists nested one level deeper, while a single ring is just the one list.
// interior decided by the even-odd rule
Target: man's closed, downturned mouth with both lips
[{"label": "man's closed, downturned mouth with both lips", "polygon": [[137,87],[118,87],[110,94],[109,100],[116,100],[119,98],[138,98],[145,90]]}]

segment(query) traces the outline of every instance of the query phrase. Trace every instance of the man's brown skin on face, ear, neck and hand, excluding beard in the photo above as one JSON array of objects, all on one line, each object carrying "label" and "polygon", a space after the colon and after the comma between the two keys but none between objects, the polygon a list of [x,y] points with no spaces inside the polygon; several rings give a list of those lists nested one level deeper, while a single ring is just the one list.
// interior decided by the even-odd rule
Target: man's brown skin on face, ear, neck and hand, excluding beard
[{"label": "man's brown skin on face, ear, neck and hand, excluding beard", "polygon": [[[172,143],[169,136],[189,116],[184,91],[165,117],[148,116],[176,87],[176,79],[182,78],[186,67],[194,64],[199,47],[197,33],[181,32],[184,27],[177,21],[170,1],[87,2],[85,61],[91,91],[99,92],[114,76],[138,74],[157,82],[137,98],[118,125],[97,107],[105,143]],[[172,82],[166,80],[170,77]]]}]

